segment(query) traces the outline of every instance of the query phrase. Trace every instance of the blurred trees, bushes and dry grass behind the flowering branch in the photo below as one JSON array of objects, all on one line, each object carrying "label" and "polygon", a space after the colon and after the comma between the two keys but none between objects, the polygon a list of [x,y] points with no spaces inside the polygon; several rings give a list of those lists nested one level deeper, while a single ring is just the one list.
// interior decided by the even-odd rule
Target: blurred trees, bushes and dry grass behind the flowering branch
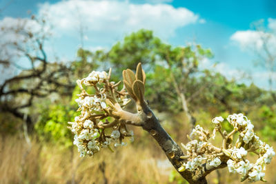
[{"label": "blurred trees, bushes and dry grass behind the flowering branch", "polygon": [[[24,116],[14,116],[12,112],[1,110],[1,149],[10,149],[12,153],[17,152],[21,164],[16,166],[20,171],[17,176],[0,178],[0,181],[4,183],[13,181],[15,183],[21,181],[24,183],[36,183],[37,181],[40,183],[64,183],[65,181],[87,183],[87,181],[95,181],[90,180],[87,174],[92,172],[92,176],[97,178],[95,182],[100,183],[128,183],[127,178],[130,176],[131,181],[137,181],[137,183],[144,182],[146,178],[149,183],[184,182],[176,172],[172,171],[170,165],[162,162],[165,157],[159,155],[159,148],[148,139],[148,135],[136,128],[134,130],[136,141],[130,146],[132,148],[122,148],[124,151],[128,149],[128,155],[122,150],[113,154],[106,150],[104,155],[109,159],[96,156],[96,162],[92,163],[92,158],[86,158],[85,161],[77,159],[75,147],[72,147],[72,134],[67,128],[67,123],[74,121],[73,118],[78,113],[75,99],[79,90],[75,87],[75,81],[87,76],[92,70],[108,70],[109,67],[112,67],[112,79],[117,81],[121,79],[122,70],[126,68],[134,70],[139,62],[144,66],[147,75],[146,99],[150,107],[157,112],[166,130],[179,143],[187,141],[186,134],[190,133],[190,128],[195,124],[208,127],[214,116],[242,112],[253,121],[259,136],[275,145],[276,107],[273,91],[258,88],[254,83],[245,85],[234,79],[226,79],[224,75],[214,72],[213,68],[202,69],[203,59],[210,57],[213,57],[210,49],[201,48],[201,45],[196,43],[184,47],[173,47],[155,37],[150,30],[133,32],[123,41],[115,43],[110,50],[92,52],[79,48],[76,61],[68,63],[66,70],[63,70],[59,76],[59,79],[62,79],[61,83],[68,85],[63,85],[62,89],[57,85],[55,91],[49,90],[47,95],[41,98],[34,96],[31,105],[19,110],[20,113],[30,116],[30,122],[26,121]],[[56,71],[60,67],[59,61],[55,64],[49,62],[47,65],[50,65],[47,72]],[[39,67],[37,65],[35,68]],[[19,76],[25,72],[28,70],[22,70]],[[64,78],[64,76],[70,77]],[[31,88],[32,85],[34,84],[30,81],[14,81],[8,85],[8,89],[21,89],[24,86]],[[52,88],[55,83],[44,85],[43,88]],[[26,94],[11,93],[8,99],[1,99],[1,107],[6,103],[16,105],[24,99],[26,99]],[[132,108],[130,104],[128,109],[131,111]],[[24,128],[25,123],[28,124],[27,131]],[[227,125],[225,126],[227,129]],[[26,143],[24,140],[27,140]],[[12,146],[9,146],[10,144]],[[20,152],[18,152],[19,147],[14,147],[18,144],[23,144]],[[141,152],[141,150],[144,151]],[[4,158],[3,156],[8,158],[6,151],[0,152],[1,154],[3,155],[0,158]],[[123,158],[119,156],[121,154]],[[133,159],[130,155],[135,158]],[[28,163],[30,156],[36,158],[35,165],[40,172],[31,172],[30,165],[32,164]],[[121,167],[117,167],[115,173],[125,177],[119,181],[112,178],[114,175],[112,170],[115,169],[111,169],[118,157],[121,159],[116,162],[121,161],[119,164]],[[131,161],[129,161],[130,158]],[[6,165],[10,165],[12,160],[10,162],[1,160],[0,168],[8,174],[12,168]],[[52,163],[53,161],[56,163]],[[63,166],[66,168],[64,170],[68,170],[70,174],[63,172],[63,168],[54,169],[54,167]],[[142,168],[146,167],[150,167],[148,171],[150,175],[146,175],[146,178],[141,180],[140,176],[145,176]],[[167,167],[168,170],[160,169]],[[52,170],[59,174],[55,174]],[[46,175],[41,171],[46,172]],[[97,176],[97,173],[102,175]],[[233,177],[226,175],[225,170],[222,173],[228,177],[227,182],[235,182]],[[226,181],[222,181],[220,176],[221,174],[212,174],[209,181],[225,183]],[[267,178],[268,181],[275,181],[272,174],[270,177]]]}]

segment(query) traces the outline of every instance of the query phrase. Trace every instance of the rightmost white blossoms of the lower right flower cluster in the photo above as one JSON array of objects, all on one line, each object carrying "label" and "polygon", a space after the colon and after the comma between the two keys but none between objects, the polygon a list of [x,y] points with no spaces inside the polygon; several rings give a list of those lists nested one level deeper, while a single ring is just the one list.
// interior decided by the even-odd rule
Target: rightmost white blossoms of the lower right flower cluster
[{"label": "rightmost white blossoms of the lower right flower cluster", "polygon": [[[244,114],[230,115],[227,121],[233,125],[234,130],[239,132],[235,147],[227,150],[231,153],[230,159],[227,161],[229,172],[242,174],[243,178],[248,178],[250,182],[264,181],[266,164],[269,164],[272,157],[275,156],[273,147],[259,140],[253,130],[254,125]],[[259,152],[257,152],[258,150]],[[256,163],[250,163],[245,159],[248,152],[258,154],[259,159]]]}]

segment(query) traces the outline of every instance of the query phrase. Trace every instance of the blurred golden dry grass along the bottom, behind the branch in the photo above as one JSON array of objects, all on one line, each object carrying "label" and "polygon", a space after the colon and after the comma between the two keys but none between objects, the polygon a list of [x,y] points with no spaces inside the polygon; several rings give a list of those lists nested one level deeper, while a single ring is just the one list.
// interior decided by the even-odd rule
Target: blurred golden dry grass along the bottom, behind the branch
[{"label": "blurred golden dry grass along the bottom, behind the branch", "polygon": [[[0,183],[169,183],[172,167],[160,164],[166,158],[159,148],[148,146],[150,149],[128,145],[115,153],[102,150],[94,158],[81,159],[75,148],[71,152],[34,140],[27,152],[23,139],[8,137],[0,141]],[[276,183],[275,165],[276,159],[273,159],[267,167],[268,183]],[[220,184],[239,183],[240,177],[230,174],[227,168],[220,170],[220,175]],[[208,181],[218,183],[217,172],[211,173]]]}]

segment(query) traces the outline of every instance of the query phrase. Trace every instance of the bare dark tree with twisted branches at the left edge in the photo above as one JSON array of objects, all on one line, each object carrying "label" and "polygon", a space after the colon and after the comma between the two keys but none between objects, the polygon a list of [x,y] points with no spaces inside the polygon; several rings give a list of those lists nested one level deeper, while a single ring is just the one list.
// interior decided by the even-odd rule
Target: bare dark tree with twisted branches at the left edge
[{"label": "bare dark tree with twisted branches at the left edge", "polygon": [[[26,117],[29,130],[34,121],[28,111],[34,99],[51,93],[71,94],[75,85],[70,79],[70,68],[61,62],[48,61],[44,43],[48,38],[46,22],[32,17],[12,19],[1,27],[0,65],[4,76],[0,85],[1,113],[19,119]],[[8,72],[12,72],[9,74]],[[14,74],[15,72],[15,74]]]}]

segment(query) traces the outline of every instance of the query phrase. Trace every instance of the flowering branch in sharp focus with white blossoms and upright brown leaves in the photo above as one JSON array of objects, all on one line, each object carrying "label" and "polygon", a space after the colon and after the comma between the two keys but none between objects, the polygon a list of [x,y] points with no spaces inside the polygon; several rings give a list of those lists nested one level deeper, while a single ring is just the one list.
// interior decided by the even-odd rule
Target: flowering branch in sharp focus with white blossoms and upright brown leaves
[{"label": "flowering branch in sharp focus with white blossoms and upright brown leaves", "polygon": [[[146,74],[141,63],[137,65],[136,74],[129,69],[124,70],[124,88],[121,90],[118,90],[119,83],[110,82],[110,75],[111,69],[108,74],[93,71],[77,81],[82,90],[76,100],[81,115],[75,117],[75,122],[69,122],[69,128],[75,134],[74,144],[81,156],[92,156],[103,147],[112,150],[113,144],[115,147],[126,145],[123,142],[126,137],[133,140],[133,132],[128,130],[127,125],[135,125],[142,127],[157,141],[168,160],[189,183],[207,183],[206,176],[210,172],[226,166],[229,172],[242,174],[242,181],[264,181],[263,171],[275,152],[273,147],[259,140],[253,130],[254,125],[246,116],[228,116],[228,123],[233,125],[230,133],[221,130],[221,122],[224,121],[221,116],[212,121],[215,123],[213,134],[197,125],[188,135],[190,141],[186,145],[181,144],[186,150],[184,153],[144,101]],[[94,94],[88,94],[83,85],[92,86]],[[124,110],[130,102],[127,95],[136,103],[136,114]],[[217,132],[222,137],[221,147],[210,143]],[[238,134],[235,145],[234,134]],[[246,159],[248,152],[259,156],[255,163]]]}]

